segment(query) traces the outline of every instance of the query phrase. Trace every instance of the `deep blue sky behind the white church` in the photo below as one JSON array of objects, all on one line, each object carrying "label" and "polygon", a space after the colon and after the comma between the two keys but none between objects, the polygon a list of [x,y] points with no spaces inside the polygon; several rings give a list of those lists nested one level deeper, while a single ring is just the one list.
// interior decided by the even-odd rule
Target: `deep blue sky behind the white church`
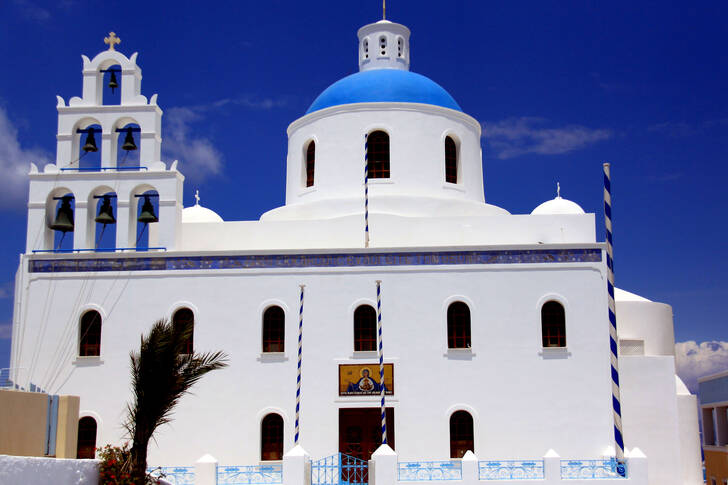
[{"label": "deep blue sky behind the white church", "polygon": [[[611,162],[617,286],[672,304],[677,340],[728,340],[726,2],[387,7],[412,30],[412,70],[484,124],[490,203],[528,213],[560,181],[602,240]],[[199,188],[226,220],[257,219],[283,203],[287,125],[355,72],[356,30],[379,18],[377,0],[2,2],[0,170],[55,157],[55,95],[81,94],[80,55],[113,30],[139,52],[142,92],[159,93],[186,204]],[[0,367],[25,184],[0,178]]]}]

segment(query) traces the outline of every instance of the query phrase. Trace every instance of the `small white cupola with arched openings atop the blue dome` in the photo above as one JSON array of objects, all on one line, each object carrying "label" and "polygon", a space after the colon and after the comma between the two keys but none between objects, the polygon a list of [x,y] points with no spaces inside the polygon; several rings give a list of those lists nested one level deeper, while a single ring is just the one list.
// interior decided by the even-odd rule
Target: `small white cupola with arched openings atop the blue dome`
[{"label": "small white cupola with arched openings atop the blue dome", "polygon": [[409,71],[409,34],[402,24],[380,20],[359,29],[359,70]]}]

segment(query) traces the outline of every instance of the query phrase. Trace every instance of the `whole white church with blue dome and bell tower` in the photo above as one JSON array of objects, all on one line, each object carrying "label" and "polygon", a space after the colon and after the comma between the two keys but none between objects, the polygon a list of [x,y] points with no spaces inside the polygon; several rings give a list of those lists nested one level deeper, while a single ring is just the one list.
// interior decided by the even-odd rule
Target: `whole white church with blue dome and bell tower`
[{"label": "whole white church with blue dome and bell tower", "polygon": [[[369,460],[378,342],[399,481],[468,451],[481,481],[498,466],[546,480],[544,457],[566,480],[569,463],[615,456],[601,221],[560,195],[530,214],[488,204],[480,123],[410,71],[409,37],[386,20],[359,29],[359,71],[288,126],[285,205],[256,221],[224,221],[199,198],[183,207],[137,54],[112,33],[82,56],[82,96],[58,97],[56,163],[31,165],[10,364],[18,386],[81,397],[80,456],[124,440],[129,353],[162,317],[192,324],[191,348],[229,366],[182,399],[150,465],[275,465],[297,418],[311,466]],[[623,480],[702,483],[672,309],[621,290],[616,302]],[[646,471],[630,475],[635,457]]]}]

